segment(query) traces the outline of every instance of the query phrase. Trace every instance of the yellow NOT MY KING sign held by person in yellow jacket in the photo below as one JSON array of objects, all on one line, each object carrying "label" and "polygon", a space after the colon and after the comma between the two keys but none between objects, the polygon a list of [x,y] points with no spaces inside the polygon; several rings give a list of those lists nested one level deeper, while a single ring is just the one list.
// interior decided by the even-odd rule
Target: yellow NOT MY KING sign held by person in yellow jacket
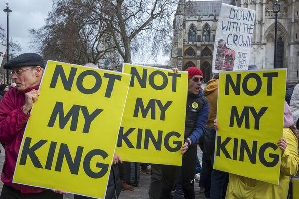
[{"label": "yellow NOT MY KING sign held by person in yellow jacket", "polygon": [[278,184],[286,69],[220,72],[214,169]]}]

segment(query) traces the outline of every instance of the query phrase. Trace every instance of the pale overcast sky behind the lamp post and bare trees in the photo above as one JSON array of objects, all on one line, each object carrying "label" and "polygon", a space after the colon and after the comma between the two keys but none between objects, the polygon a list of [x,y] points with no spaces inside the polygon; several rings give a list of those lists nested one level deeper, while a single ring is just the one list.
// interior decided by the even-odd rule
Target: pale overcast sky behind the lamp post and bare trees
[{"label": "pale overcast sky behind the lamp post and bare trees", "polygon": [[[6,3],[9,3],[9,9],[12,13],[9,15],[9,38],[17,41],[22,49],[21,53],[34,52],[29,49],[29,32],[31,28],[41,28],[45,25],[45,19],[48,12],[52,9],[51,0],[5,0],[0,1],[0,9],[6,8]],[[7,33],[6,13],[0,13],[0,23]],[[133,64],[165,64],[169,57],[158,56],[153,60],[149,56],[142,58],[134,58]]]}]

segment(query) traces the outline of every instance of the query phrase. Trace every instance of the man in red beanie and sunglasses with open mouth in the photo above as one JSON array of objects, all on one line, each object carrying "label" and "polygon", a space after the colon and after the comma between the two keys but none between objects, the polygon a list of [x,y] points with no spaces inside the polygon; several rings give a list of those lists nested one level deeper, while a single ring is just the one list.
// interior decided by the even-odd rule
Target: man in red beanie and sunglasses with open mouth
[{"label": "man in red beanie and sunglasses with open mouth", "polygon": [[[177,68],[173,68],[178,72]],[[162,190],[160,198],[170,198],[174,179],[174,173],[181,169],[182,188],[185,199],[194,199],[194,172],[196,166],[197,143],[205,131],[209,102],[204,97],[201,85],[203,73],[197,67],[189,67],[188,72],[188,97],[186,108],[186,122],[184,145],[182,146],[182,166],[162,165]],[[175,122],[175,121],[174,121]]]}]

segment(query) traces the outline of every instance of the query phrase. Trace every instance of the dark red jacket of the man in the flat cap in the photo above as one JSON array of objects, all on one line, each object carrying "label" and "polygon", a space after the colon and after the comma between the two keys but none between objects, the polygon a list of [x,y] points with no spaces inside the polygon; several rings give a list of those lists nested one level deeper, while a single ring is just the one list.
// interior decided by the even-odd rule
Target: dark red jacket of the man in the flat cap
[{"label": "dark red jacket of the man in the flat cap", "polygon": [[[5,145],[5,161],[1,173],[4,184],[11,186],[22,193],[40,193],[44,189],[12,183],[19,149],[24,135],[26,123],[30,117],[23,112],[25,93],[39,86],[26,89],[22,92],[17,88],[10,89],[0,100],[0,142]],[[32,176],[34,177],[34,176]]]}]

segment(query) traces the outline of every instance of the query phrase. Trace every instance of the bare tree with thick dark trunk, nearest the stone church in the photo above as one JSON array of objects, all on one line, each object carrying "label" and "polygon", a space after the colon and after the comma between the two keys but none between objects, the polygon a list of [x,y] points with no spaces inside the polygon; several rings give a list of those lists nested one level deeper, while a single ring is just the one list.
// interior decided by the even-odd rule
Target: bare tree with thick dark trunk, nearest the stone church
[{"label": "bare tree with thick dark trunk, nearest the stone church", "polygon": [[155,56],[169,44],[171,17],[177,3],[178,0],[95,1],[94,10],[106,21],[124,62],[131,63],[132,52],[146,48]]}]

